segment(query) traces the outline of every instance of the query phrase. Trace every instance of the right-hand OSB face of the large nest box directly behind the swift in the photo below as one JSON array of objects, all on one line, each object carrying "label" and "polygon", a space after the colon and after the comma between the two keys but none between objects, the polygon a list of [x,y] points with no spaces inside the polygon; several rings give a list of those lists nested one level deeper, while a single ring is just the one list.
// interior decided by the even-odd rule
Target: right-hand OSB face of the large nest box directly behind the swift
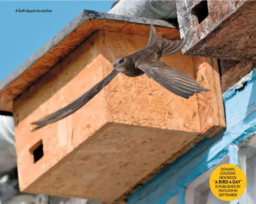
[{"label": "right-hand OSB face of the large nest box directly behind the swift", "polygon": [[[148,43],[148,37],[145,36],[107,31],[104,31],[104,35],[106,46],[102,54],[109,61],[138,51]],[[179,52],[161,60],[195,77],[191,56]],[[108,72],[112,69],[108,67]],[[108,104],[111,104],[109,111],[112,112],[113,122],[186,132],[201,131],[196,94],[189,99],[178,97],[149,79],[146,74],[131,78],[120,73],[107,88],[113,90],[111,97],[107,97]]]}]

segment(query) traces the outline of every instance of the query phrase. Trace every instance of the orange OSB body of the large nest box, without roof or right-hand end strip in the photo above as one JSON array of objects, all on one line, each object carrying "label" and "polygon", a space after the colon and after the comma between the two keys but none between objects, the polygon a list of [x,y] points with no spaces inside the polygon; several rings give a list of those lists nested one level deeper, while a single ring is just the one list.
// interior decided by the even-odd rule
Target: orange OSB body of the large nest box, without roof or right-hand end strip
[{"label": "orange OSB body of the large nest box, without roof or right-hand end strip", "polygon": [[[143,48],[147,41],[147,36],[98,31],[16,98],[22,192],[120,203],[141,181],[147,182],[205,137],[197,95],[184,99],[145,75],[129,78],[122,73],[77,112],[30,132],[31,121],[75,100],[108,75],[113,59]],[[191,56],[179,52],[163,60],[195,77]],[[217,81],[202,86],[220,89]],[[212,114],[211,121],[217,118]],[[34,163],[30,149],[41,139],[44,156]]]}]

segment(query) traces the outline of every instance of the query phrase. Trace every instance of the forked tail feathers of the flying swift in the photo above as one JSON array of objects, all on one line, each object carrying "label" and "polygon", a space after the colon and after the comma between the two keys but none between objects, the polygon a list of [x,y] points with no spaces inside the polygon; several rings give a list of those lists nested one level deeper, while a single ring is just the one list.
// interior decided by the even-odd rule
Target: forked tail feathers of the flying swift
[{"label": "forked tail feathers of the flying swift", "polygon": [[169,55],[173,55],[176,52],[180,51],[184,45],[186,44],[186,42],[188,41],[188,35],[185,34],[184,38],[177,40],[177,41],[169,41],[165,38],[162,37],[158,37],[156,35],[156,31],[153,25],[150,26],[150,36],[149,36],[149,40],[148,40],[148,46],[153,44],[154,41],[160,38],[163,41],[165,41],[165,45],[163,47],[162,50],[162,55],[161,56],[169,56]]}]

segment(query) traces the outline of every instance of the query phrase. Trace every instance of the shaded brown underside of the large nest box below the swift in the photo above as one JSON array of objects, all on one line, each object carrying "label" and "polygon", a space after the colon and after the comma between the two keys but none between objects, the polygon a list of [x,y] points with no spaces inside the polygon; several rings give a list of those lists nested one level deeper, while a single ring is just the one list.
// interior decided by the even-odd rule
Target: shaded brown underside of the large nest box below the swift
[{"label": "shaded brown underside of the large nest box below the swift", "polygon": [[196,136],[109,123],[25,192],[113,202]]}]

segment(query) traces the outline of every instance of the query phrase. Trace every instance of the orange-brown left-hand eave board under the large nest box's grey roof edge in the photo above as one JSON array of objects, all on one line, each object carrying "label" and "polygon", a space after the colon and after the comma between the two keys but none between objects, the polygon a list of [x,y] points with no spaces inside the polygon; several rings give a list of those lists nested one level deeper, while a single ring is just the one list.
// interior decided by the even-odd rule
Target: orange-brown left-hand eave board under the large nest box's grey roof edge
[{"label": "orange-brown left-hand eave board under the large nest box's grey roof edge", "polygon": [[[56,36],[54,36],[44,47],[42,47],[38,52],[45,52],[49,47],[54,45],[56,41],[59,41],[63,36],[67,35],[62,41],[53,46],[49,51],[45,53],[41,58],[35,61],[35,59],[28,59],[23,66],[32,63],[32,65],[20,76],[17,80],[11,82],[8,89],[0,91],[0,106],[1,110],[7,110],[13,112],[13,100],[17,95],[26,91],[27,87],[35,82],[40,76],[46,74],[52,66],[55,66],[62,59],[64,59],[67,54],[72,51],[75,47],[79,46],[82,41],[88,38],[95,27],[98,26],[99,22],[97,20],[87,21],[86,26],[78,26],[73,32],[67,34],[66,31],[60,31]],[[68,25],[70,26],[70,25]],[[3,107],[3,104],[5,107]]]}]

